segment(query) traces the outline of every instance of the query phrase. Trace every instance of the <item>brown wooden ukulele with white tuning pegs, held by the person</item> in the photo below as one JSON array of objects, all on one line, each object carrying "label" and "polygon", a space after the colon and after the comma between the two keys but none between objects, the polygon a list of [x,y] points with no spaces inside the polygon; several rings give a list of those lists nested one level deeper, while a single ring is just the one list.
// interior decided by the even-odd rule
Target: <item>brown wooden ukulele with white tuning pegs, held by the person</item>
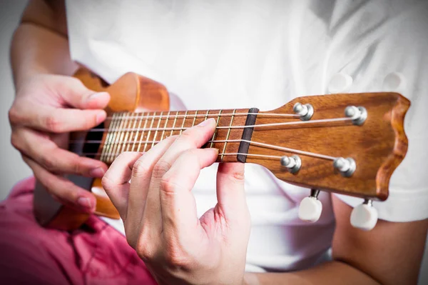
[{"label": "brown wooden ukulele with white tuning pegs, held by the person", "polygon": [[[410,102],[397,93],[305,96],[272,111],[169,111],[165,86],[143,76],[128,73],[110,86],[87,69],[75,76],[93,91],[107,91],[111,101],[106,121],[71,134],[70,151],[109,165],[123,151],[148,151],[215,118],[215,133],[204,147],[218,149],[217,162],[260,164],[282,181],[312,189],[299,209],[307,221],[320,216],[318,193],[330,191],[364,199],[351,223],[371,229],[377,220],[371,201],[387,199],[389,179],[407,152],[403,122]],[[97,215],[120,219],[101,179],[66,177],[95,194]],[[39,182],[34,214],[42,226],[63,230],[76,229],[89,217],[60,204]]]}]

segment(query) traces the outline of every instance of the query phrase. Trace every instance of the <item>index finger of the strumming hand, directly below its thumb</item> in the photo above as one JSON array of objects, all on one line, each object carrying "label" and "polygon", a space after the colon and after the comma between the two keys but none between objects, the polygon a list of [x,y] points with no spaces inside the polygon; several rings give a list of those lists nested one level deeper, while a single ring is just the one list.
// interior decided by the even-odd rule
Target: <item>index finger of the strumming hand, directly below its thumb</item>
[{"label": "index finger of the strumming hand, directly below its thumb", "polygon": [[107,116],[103,110],[61,109],[53,106],[34,108],[31,104],[16,108],[16,114],[19,114],[14,124],[52,133],[85,131],[101,124]]}]

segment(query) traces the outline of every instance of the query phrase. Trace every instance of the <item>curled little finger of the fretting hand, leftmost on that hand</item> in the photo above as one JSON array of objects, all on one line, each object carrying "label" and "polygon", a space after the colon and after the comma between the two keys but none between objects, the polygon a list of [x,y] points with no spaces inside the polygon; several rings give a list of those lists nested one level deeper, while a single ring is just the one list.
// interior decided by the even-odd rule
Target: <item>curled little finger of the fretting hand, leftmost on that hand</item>
[{"label": "curled little finger of the fretting hand, leftmost on that hand", "polygon": [[113,161],[106,175],[103,176],[103,189],[118,209],[123,221],[126,221],[128,210],[129,179],[131,179],[133,165],[142,155],[140,152],[123,152]]}]

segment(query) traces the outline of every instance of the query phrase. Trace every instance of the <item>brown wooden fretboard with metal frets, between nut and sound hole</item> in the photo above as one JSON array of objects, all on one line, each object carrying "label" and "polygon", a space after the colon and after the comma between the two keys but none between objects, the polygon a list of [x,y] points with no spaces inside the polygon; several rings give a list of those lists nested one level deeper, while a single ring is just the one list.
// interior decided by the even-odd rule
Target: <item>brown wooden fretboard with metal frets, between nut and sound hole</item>
[{"label": "brown wooden fretboard with metal frets, between nut and sound hole", "polygon": [[238,154],[248,151],[240,140],[252,131],[242,126],[255,121],[257,112],[258,109],[225,109],[113,113],[106,119],[105,129],[100,130],[104,134],[95,157],[111,164],[123,151],[146,152],[168,136],[180,135],[185,129],[214,118],[217,127],[203,147],[218,149],[218,162],[238,161]]}]

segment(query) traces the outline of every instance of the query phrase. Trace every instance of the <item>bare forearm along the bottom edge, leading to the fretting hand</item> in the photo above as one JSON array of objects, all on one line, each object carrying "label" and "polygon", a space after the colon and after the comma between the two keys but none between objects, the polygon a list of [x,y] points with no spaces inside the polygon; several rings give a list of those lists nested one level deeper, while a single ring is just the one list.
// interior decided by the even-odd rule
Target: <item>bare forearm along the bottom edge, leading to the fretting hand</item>
[{"label": "bare forearm along the bottom edge, leading to the fretting hand", "polygon": [[287,284],[367,284],[379,285],[364,272],[340,261],[331,261],[311,269],[287,273],[245,273],[245,285]]}]

